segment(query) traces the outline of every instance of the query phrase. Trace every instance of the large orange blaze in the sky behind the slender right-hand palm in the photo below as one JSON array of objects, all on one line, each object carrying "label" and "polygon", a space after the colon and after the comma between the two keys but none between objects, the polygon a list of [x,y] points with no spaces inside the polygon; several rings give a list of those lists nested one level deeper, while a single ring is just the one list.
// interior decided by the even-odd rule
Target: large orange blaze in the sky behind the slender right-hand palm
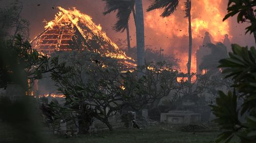
[{"label": "large orange blaze in the sky behind the slender right-hand palm", "polygon": [[[145,28],[156,34],[155,40],[147,40],[157,43],[165,48],[165,51],[172,52],[176,58],[180,58],[181,71],[186,72],[188,60],[188,19],[184,18],[184,0],[180,1],[177,11],[169,16],[160,17],[162,10],[145,13]],[[191,26],[193,34],[193,56],[191,71],[196,72],[196,49],[202,44],[204,33],[211,35],[212,42],[223,42],[224,35],[229,34],[229,21],[222,21],[226,10],[222,9],[222,0],[191,0]],[[226,3],[226,2],[225,2]],[[152,32],[148,32],[152,33]],[[152,37],[151,37],[152,38]],[[157,40],[160,39],[160,40]],[[185,43],[184,43],[185,42]]]}]

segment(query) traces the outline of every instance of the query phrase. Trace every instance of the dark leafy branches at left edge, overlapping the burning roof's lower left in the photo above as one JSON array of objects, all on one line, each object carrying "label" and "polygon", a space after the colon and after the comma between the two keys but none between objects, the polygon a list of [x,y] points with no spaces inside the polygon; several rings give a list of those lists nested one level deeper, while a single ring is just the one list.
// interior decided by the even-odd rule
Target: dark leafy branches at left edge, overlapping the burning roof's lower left
[{"label": "dark leafy branches at left edge, overlapping the burning roof's lower left", "polygon": [[0,43],[0,82],[1,87],[8,83],[16,83],[27,87],[27,82],[42,78],[42,73],[53,71],[58,66],[58,60],[50,60],[46,55],[32,49],[28,41],[23,41],[18,35],[16,40]]}]

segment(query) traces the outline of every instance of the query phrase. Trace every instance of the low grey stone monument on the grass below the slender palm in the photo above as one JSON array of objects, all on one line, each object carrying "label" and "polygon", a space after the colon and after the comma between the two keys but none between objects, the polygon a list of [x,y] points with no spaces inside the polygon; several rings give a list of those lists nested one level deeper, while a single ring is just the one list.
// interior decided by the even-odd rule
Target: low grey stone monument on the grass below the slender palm
[{"label": "low grey stone monument on the grass below the slender palm", "polygon": [[196,123],[201,121],[201,113],[194,113],[193,111],[169,111],[161,113],[160,122],[171,124],[182,123]]}]

